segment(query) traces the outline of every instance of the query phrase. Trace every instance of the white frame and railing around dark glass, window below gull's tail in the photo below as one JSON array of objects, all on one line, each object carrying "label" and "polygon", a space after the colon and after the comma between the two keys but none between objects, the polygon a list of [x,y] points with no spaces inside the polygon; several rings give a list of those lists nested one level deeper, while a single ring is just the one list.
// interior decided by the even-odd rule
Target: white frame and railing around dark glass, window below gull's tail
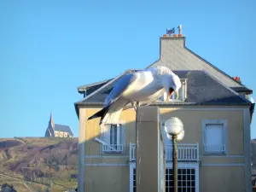
[{"label": "white frame and railing around dark glass, window below gull's tail", "polygon": [[[124,127],[123,124],[114,124],[117,129],[116,143],[111,143],[111,126],[105,124],[102,126],[101,139],[102,143],[102,154],[122,154],[124,153]],[[109,129],[109,131],[108,131]]]}]

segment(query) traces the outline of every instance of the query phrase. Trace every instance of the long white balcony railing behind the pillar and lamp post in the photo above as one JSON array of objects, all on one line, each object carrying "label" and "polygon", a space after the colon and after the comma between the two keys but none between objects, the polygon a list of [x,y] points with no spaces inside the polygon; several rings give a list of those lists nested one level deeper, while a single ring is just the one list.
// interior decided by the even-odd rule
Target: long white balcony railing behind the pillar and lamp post
[{"label": "long white balcony railing behind the pillar and lamp post", "polygon": [[[172,161],[172,145],[167,145],[165,150],[166,150],[166,161]],[[132,160],[136,160],[135,143],[130,143],[130,161]],[[177,160],[198,161],[199,160],[198,143],[177,144]]]}]

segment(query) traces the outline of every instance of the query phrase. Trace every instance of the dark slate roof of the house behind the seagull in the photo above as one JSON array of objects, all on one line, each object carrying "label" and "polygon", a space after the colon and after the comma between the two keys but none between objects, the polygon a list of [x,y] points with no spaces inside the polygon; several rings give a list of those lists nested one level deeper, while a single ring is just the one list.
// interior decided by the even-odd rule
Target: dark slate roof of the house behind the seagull
[{"label": "dark slate roof of the house behind the seagull", "polygon": [[[180,79],[187,79],[187,99],[185,102],[155,102],[156,105],[247,105],[251,102],[239,96],[236,91],[222,84],[212,75],[201,70],[173,71]],[[102,90],[77,104],[102,105],[113,88],[113,82],[105,84]]]}]

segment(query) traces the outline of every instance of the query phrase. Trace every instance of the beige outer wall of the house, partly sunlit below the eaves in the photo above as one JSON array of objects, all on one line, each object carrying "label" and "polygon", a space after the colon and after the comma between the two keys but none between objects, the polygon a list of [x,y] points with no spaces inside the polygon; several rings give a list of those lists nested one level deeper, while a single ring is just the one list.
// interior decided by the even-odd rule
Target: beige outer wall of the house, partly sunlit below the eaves
[{"label": "beige outer wall of the house, partly sunlit below the eaves", "polygon": [[[100,108],[80,108],[79,146],[85,149],[86,160],[79,163],[90,166],[85,167],[85,191],[129,191],[129,144],[135,143],[136,113],[134,109],[121,113],[120,123],[125,124],[125,153],[101,154],[101,144],[95,141],[100,137],[99,119],[86,121]],[[185,137],[181,143],[199,143],[199,189],[200,191],[245,191],[245,146],[244,146],[244,109],[241,108],[160,108],[163,121],[176,116],[183,121]],[[227,120],[227,156],[203,155],[202,121],[204,119]],[[84,143],[85,146],[84,146]],[[83,149],[83,150],[84,150]],[[79,155],[83,152],[79,152]],[[85,154],[84,157],[85,157]],[[105,164],[106,166],[100,166]],[[120,164],[120,166],[109,166]],[[235,164],[234,166],[232,166]],[[93,166],[98,165],[98,166]],[[125,166],[126,165],[126,166]],[[227,165],[227,166],[225,166]],[[79,172],[80,172],[79,168]],[[83,175],[81,173],[81,175]],[[86,184],[87,183],[87,184]]]}]

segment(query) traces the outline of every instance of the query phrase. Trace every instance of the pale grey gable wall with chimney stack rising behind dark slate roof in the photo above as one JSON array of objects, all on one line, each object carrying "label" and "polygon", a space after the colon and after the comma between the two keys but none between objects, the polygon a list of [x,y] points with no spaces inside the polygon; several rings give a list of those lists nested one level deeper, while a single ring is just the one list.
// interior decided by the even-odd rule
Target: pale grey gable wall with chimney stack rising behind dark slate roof
[{"label": "pale grey gable wall with chimney stack rising behind dark slate roof", "polygon": [[200,55],[195,54],[191,49],[188,49],[185,45],[185,39],[185,37],[160,38],[160,59],[148,67],[165,66],[172,71],[203,70],[210,73],[213,77],[221,79],[222,82],[229,87],[236,87],[236,89],[246,87],[244,84],[232,79],[230,75],[224,73]]}]

